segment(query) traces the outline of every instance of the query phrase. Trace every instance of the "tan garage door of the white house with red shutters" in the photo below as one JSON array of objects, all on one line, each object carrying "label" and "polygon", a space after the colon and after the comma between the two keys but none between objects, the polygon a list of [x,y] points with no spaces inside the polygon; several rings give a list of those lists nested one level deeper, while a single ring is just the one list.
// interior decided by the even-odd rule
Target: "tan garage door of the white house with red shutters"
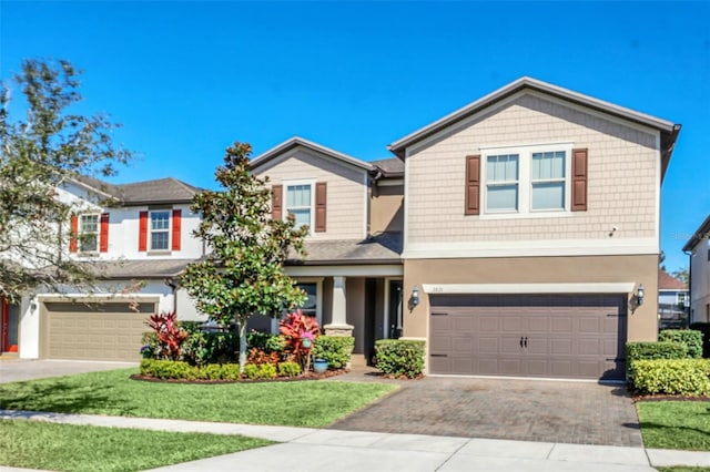
[{"label": "tan garage door of the white house with red shutters", "polygon": [[140,360],[141,336],[155,304],[141,301],[139,312],[128,302],[43,304],[43,353],[47,359]]}]

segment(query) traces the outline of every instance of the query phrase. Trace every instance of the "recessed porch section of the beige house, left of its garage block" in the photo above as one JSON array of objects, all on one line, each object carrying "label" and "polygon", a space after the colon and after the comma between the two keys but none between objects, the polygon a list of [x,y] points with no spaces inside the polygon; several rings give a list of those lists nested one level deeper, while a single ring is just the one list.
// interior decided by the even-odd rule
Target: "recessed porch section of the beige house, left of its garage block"
[{"label": "recessed porch section of the beige house, left of its garage block", "polygon": [[[274,218],[292,213],[311,233],[304,260],[286,273],[306,291],[304,311],[326,334],[355,337],[355,362],[369,360],[376,339],[402,327],[404,166],[396,158],[366,163],[294,137],[255,157],[268,176]],[[251,327],[275,330],[275,321]]]}]

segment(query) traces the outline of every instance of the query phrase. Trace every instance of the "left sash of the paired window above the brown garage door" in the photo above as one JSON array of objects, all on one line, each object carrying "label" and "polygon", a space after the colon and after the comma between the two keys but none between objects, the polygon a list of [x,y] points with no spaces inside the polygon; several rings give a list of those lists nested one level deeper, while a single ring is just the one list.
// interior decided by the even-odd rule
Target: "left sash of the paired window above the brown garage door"
[{"label": "left sash of the paired window above the brown garage door", "polygon": [[486,160],[486,211],[516,212],[518,209],[517,154],[488,156]]}]

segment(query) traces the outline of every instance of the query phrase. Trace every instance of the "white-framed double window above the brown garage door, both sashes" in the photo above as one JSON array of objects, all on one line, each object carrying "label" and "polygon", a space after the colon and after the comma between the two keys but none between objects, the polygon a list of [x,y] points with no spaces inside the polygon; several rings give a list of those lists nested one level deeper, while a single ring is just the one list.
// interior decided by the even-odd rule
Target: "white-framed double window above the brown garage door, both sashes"
[{"label": "white-framed double window above the brown garage door, both sashes", "polygon": [[481,148],[484,215],[566,214],[571,152],[571,143]]}]

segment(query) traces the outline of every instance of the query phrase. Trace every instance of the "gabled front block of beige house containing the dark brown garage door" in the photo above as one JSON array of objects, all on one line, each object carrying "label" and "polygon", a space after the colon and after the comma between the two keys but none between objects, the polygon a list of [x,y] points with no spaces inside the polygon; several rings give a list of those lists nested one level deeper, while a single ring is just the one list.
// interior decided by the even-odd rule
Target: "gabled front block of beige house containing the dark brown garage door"
[{"label": "gabled front block of beige house containing the dark brown garage door", "polygon": [[623,379],[625,342],[657,339],[679,131],[523,78],[389,145],[405,162],[404,336],[427,341],[428,372]]}]

